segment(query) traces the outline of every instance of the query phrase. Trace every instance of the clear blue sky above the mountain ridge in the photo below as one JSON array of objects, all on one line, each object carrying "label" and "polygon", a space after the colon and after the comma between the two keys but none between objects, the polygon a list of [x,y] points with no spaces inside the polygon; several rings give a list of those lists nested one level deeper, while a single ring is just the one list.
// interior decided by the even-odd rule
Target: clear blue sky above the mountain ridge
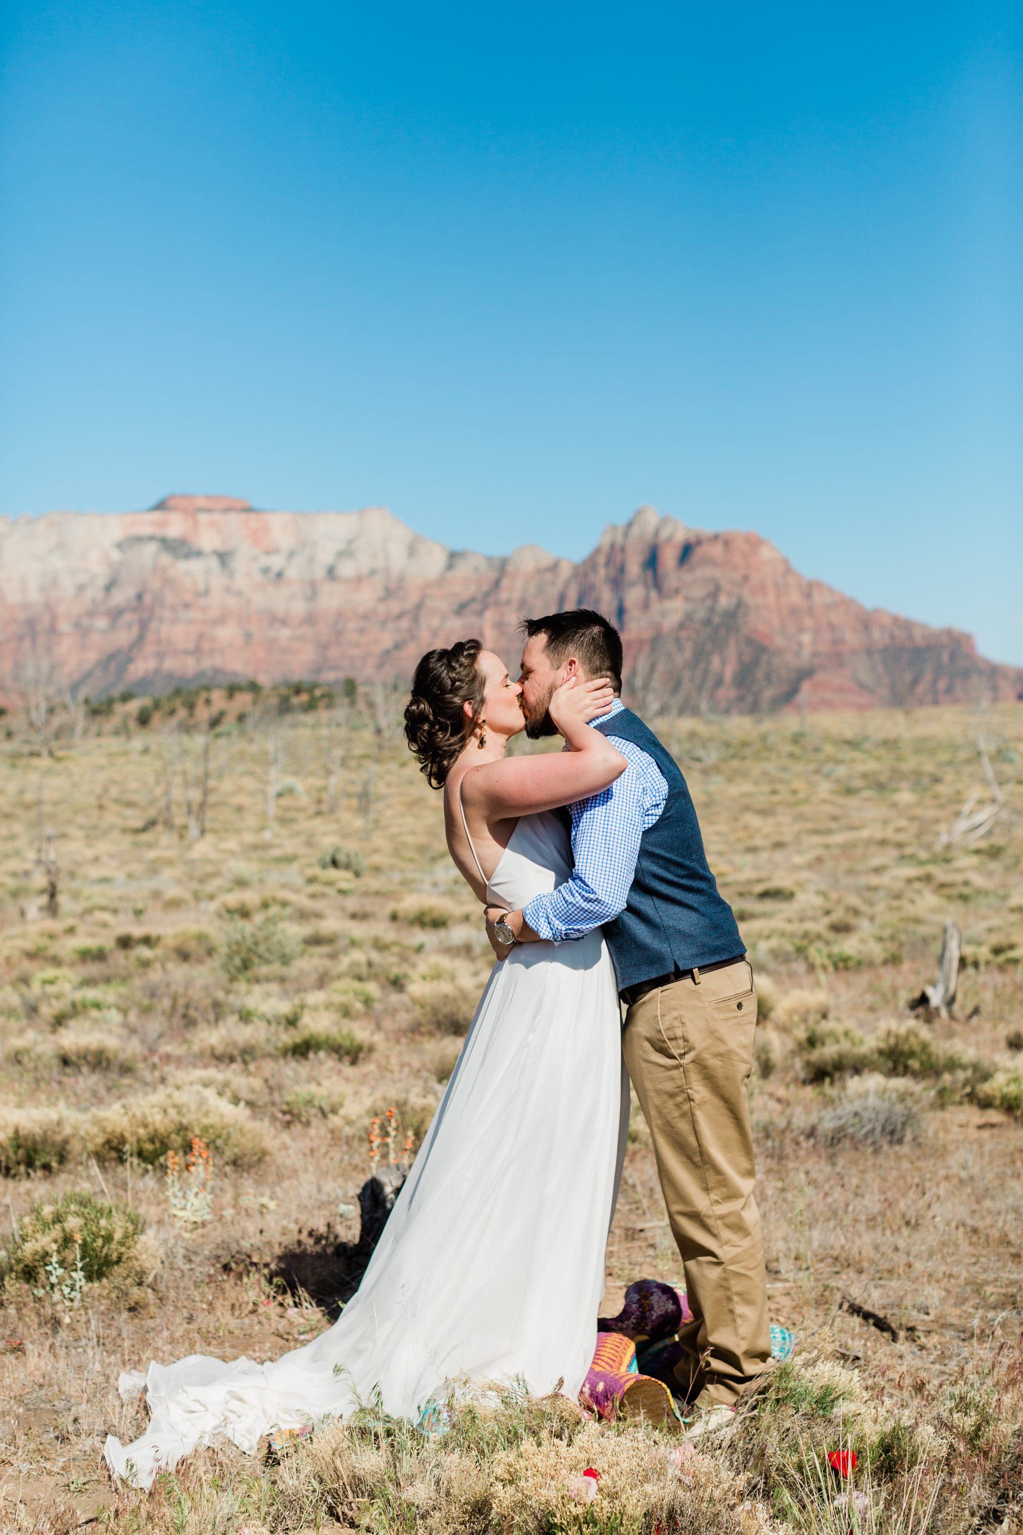
[{"label": "clear blue sky above the mountain ridge", "polygon": [[1018,0],[0,28],[0,513],[650,502],[1023,663]]}]

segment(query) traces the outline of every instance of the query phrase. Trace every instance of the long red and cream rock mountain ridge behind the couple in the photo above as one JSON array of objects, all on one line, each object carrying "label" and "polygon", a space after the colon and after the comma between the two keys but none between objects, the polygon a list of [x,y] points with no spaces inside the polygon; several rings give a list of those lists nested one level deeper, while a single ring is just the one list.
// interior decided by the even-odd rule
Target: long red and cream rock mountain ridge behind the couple
[{"label": "long red and cream rock mountain ridge behind the couple", "polygon": [[425,649],[469,634],[514,666],[518,617],[574,606],[621,629],[626,695],[652,714],[1023,698],[1023,668],[977,655],[968,634],[867,609],[756,533],[701,533],[652,507],[578,563],[535,545],[452,551],[382,507],[169,496],[0,519],[0,674],[29,646],[92,697],[408,678]]}]

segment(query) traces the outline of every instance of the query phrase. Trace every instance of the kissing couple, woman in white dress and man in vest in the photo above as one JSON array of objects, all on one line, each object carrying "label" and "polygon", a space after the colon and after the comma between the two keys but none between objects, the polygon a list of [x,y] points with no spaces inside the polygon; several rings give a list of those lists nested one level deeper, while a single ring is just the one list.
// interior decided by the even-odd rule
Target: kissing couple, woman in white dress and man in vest
[{"label": "kissing couple, woman in white dress and man in vest", "polygon": [[[686,1269],[692,1322],[666,1380],[683,1420],[729,1412],[767,1368],[756,990],[739,930],[686,780],[621,705],[618,631],[580,608],[521,632],[517,682],[460,640],[423,655],[405,711],[498,962],[370,1266],[334,1326],[273,1363],[152,1363],[149,1432],[106,1443],[112,1471],[141,1486],[219,1435],[252,1454],[271,1429],[360,1403],[420,1421],[495,1382],[577,1397],[629,1079]],[[564,749],[508,757],[523,729]]]}]

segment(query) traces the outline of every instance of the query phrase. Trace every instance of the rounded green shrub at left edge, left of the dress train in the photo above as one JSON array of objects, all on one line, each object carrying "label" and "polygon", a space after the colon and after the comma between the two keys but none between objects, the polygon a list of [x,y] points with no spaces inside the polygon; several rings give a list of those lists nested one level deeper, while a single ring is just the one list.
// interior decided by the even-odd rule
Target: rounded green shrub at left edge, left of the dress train
[{"label": "rounded green shrub at left edge, left of the dress train", "polygon": [[74,1268],[77,1236],[81,1268],[92,1285],[135,1256],[140,1230],[138,1211],[107,1205],[90,1193],[71,1191],[55,1202],[32,1205],[21,1217],[17,1240],[0,1257],[0,1279],[26,1285],[44,1282],[54,1249],[63,1268]]}]

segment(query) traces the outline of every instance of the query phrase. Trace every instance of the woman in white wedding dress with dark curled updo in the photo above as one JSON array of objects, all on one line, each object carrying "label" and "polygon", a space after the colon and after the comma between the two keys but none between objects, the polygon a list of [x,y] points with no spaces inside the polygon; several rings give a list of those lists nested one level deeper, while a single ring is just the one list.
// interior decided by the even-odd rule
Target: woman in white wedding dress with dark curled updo
[{"label": "woman in white wedding dress with dark curled updo", "polygon": [[[520,909],[567,880],[560,806],[612,784],[626,758],[589,720],[603,682],[569,678],[551,718],[569,751],[506,757],[521,688],[479,640],[429,651],[405,734],[443,787],[451,857],[480,901]],[[110,1469],[152,1486],[225,1435],[261,1435],[360,1401],[419,1420],[471,1382],[575,1397],[597,1343],[604,1245],[627,1128],[618,989],[600,930],[532,942],[494,966],[443,1099],[362,1283],[334,1326],[268,1365],[201,1354],[144,1380],[149,1432],[106,1441]],[[627,1087],[626,1087],[627,1091]]]}]

